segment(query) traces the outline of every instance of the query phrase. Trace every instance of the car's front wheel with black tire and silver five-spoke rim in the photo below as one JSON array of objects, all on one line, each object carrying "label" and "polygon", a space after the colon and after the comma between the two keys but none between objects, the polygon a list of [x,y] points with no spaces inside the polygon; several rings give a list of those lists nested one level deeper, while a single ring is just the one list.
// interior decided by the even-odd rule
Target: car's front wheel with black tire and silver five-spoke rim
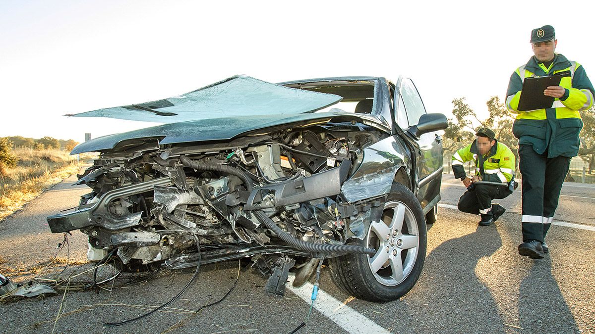
[{"label": "car's front wheel with black tire and silver five-spoke rim", "polygon": [[[398,226],[400,215],[402,228],[397,231],[391,226]],[[408,188],[393,184],[382,220],[372,222],[364,240],[353,241],[356,245],[374,247],[377,250],[374,256],[347,254],[328,260],[333,282],[362,300],[384,302],[399,299],[413,288],[424,266],[427,248],[424,213],[417,198]],[[380,223],[384,223],[384,227]],[[378,239],[378,231],[386,232],[384,228],[390,232],[388,241]],[[414,239],[417,240],[417,245],[406,248],[414,244]],[[382,248],[379,249],[380,247]],[[386,247],[389,247],[389,252],[386,253],[389,255],[383,253]],[[387,257],[386,262],[379,266],[378,263],[384,257]],[[377,261],[371,263],[371,259]],[[398,275],[399,261],[402,277]],[[375,267],[380,269],[374,272],[372,268]]]}]

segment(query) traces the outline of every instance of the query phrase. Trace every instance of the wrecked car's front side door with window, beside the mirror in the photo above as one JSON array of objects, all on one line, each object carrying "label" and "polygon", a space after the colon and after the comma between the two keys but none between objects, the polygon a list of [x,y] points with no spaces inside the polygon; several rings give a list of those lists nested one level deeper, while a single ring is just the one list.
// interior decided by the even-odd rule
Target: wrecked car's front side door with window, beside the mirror
[{"label": "wrecked car's front side door with window, beside the mirror", "polygon": [[[403,131],[417,125],[421,115],[426,114],[424,102],[411,79],[402,78],[395,90],[395,121]],[[442,137],[439,131],[412,138],[418,145],[415,152],[415,195],[427,213],[440,200],[440,184],[443,171]]]}]

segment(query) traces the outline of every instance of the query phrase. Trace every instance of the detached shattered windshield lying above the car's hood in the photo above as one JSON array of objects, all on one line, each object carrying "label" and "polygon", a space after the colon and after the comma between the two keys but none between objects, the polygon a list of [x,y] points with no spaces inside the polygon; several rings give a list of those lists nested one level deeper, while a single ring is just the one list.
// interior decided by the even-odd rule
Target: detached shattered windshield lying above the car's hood
[{"label": "detached shattered windshield lying above the car's hood", "polygon": [[341,99],[336,94],[293,89],[248,76],[235,76],[168,99],[67,116],[174,123],[250,115],[303,114],[327,108]]}]

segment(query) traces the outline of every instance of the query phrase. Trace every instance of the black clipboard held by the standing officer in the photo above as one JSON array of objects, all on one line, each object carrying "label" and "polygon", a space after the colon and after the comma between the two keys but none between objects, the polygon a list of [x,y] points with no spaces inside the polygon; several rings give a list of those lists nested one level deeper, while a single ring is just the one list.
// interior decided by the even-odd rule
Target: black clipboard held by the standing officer
[{"label": "black clipboard held by the standing officer", "polygon": [[560,80],[569,76],[571,76],[570,72],[565,71],[545,77],[525,78],[522,83],[518,111],[552,108],[554,97],[545,96],[543,91],[549,86],[560,86]]}]

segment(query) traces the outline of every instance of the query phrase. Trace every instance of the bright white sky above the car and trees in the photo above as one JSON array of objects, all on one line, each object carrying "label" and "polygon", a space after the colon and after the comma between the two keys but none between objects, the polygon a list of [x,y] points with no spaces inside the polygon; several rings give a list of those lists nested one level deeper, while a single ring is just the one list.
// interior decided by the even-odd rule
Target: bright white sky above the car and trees
[{"label": "bright white sky above the car and trees", "polygon": [[[491,4],[490,4],[491,3]],[[559,7],[559,10],[553,8]],[[504,98],[551,24],[595,75],[592,1],[0,2],[0,136],[84,140],[152,123],[62,115],[162,99],[234,74],[412,78],[428,112]]]}]

